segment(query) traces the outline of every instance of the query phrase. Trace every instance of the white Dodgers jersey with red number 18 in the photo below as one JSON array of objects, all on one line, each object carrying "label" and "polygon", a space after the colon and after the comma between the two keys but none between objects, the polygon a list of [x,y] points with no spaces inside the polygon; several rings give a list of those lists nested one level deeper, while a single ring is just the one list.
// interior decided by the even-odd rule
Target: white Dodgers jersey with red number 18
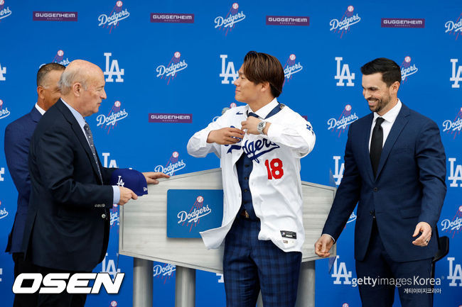
[{"label": "white Dodgers jersey with red number 18", "polygon": [[[276,105],[274,99],[256,113],[260,116],[269,113]],[[305,238],[300,158],[313,150],[316,136],[310,123],[284,106],[274,116],[265,119],[271,123],[268,135],[246,133],[240,142],[232,145],[207,143],[212,130],[240,128],[241,122],[247,119],[248,110],[249,106],[231,108],[207,128],[195,133],[188,142],[190,155],[205,157],[215,152],[221,159],[225,207],[222,226],[200,234],[208,248],[219,247],[225,239],[242,201],[235,164],[241,155],[247,155],[253,163],[249,177],[252,203],[255,214],[262,220],[259,240],[272,240],[281,250],[299,252]]]}]

